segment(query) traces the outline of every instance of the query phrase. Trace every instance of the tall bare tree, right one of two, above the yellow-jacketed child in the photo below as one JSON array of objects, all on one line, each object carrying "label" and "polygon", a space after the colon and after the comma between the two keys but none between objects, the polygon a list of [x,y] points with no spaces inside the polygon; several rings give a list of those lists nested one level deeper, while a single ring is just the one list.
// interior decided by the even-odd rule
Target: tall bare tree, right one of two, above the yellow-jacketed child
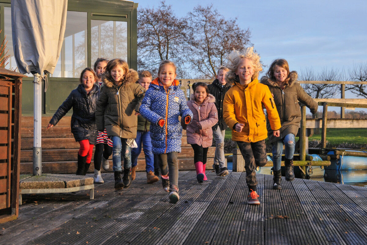
[{"label": "tall bare tree, right one of two, above the yellow-jacketed child", "polygon": [[185,54],[196,78],[215,78],[233,48],[242,50],[251,44],[250,30],[241,29],[237,18],[225,19],[212,5],[196,6],[188,13],[188,23],[190,49]]}]

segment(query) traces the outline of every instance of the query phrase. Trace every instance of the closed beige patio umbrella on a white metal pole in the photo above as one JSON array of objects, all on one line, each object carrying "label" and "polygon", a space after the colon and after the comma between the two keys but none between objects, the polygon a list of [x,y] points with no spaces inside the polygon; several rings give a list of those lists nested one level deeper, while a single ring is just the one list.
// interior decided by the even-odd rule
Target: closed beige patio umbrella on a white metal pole
[{"label": "closed beige patio umbrella on a white metal pole", "polygon": [[12,0],[11,29],[14,56],[20,73],[34,76],[33,175],[42,174],[41,82],[53,73],[66,26],[68,0]]}]

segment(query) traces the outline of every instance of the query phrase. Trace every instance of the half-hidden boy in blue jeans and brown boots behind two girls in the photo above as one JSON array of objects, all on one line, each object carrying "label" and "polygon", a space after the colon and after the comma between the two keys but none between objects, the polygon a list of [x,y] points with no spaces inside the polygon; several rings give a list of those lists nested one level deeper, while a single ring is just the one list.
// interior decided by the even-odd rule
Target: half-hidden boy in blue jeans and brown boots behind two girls
[{"label": "half-hidden boy in blue jeans and brown boots behind two girls", "polygon": [[[145,90],[148,90],[149,84],[152,82],[152,74],[149,71],[139,72],[139,83]],[[135,167],[138,164],[138,156],[141,152],[141,145],[143,144],[143,151],[145,155],[145,171],[146,171],[146,183],[156,183],[159,178],[154,173],[158,168],[158,156],[152,152],[152,140],[150,139],[149,131],[150,122],[138,115],[138,131],[135,142],[138,147],[131,149],[131,178],[135,179]]]}]

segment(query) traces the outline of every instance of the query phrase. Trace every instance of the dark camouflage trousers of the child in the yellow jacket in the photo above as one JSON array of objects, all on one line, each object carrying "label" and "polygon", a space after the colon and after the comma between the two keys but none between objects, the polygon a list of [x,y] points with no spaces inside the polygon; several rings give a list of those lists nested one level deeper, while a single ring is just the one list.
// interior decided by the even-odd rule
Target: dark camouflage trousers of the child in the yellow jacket
[{"label": "dark camouflage trousers of the child in the yellow jacket", "polygon": [[249,188],[255,186],[256,188],[256,166],[265,166],[267,162],[265,140],[257,142],[237,141],[237,145],[238,148],[240,148],[243,159],[245,160],[247,186]]}]

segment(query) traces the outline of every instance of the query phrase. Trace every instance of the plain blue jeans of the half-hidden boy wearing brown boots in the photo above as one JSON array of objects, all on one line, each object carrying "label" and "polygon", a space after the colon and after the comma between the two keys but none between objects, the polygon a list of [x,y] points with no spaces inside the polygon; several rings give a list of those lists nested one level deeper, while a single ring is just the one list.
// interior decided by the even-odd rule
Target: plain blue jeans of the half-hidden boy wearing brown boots
[{"label": "plain blue jeans of the half-hidden boy wearing brown boots", "polygon": [[158,157],[153,155],[152,152],[152,140],[150,138],[150,131],[137,131],[137,137],[135,138],[135,142],[137,143],[137,148],[131,149],[131,166],[135,167],[138,164],[138,156],[141,152],[141,145],[143,144],[143,151],[145,155],[145,171],[149,173],[149,171],[154,172],[154,166],[158,165],[158,162],[155,164],[155,159],[158,161]]}]

